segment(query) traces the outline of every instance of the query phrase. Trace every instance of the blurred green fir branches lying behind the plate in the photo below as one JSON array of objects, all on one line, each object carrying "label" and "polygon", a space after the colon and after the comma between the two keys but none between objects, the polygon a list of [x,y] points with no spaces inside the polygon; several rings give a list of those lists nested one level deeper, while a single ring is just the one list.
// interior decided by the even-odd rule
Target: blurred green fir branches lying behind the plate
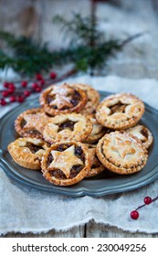
[{"label": "blurred green fir branches lying behind the plate", "polygon": [[35,73],[73,63],[74,69],[84,72],[90,70],[92,74],[94,69],[105,67],[107,60],[126,44],[142,36],[140,33],[124,41],[106,40],[104,33],[98,29],[94,15],[82,17],[74,14],[70,21],[62,16],[55,16],[53,22],[70,39],[68,48],[51,51],[47,44],[38,43],[32,38],[15,37],[11,33],[0,31],[0,40],[5,41],[6,45],[6,50],[0,49],[0,68],[12,67],[17,72],[32,77]]}]

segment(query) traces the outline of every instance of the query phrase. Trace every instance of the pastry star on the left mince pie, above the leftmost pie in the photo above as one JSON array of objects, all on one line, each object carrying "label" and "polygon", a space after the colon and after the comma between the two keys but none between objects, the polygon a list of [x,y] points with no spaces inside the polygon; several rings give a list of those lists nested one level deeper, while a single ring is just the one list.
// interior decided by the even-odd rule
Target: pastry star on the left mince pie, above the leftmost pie
[{"label": "pastry star on the left mince pie, above the leftmost pie", "polygon": [[26,114],[24,115],[24,119],[26,120],[26,124],[24,129],[35,129],[42,133],[45,125],[50,120],[49,117],[45,113],[38,112],[35,115],[33,114]]}]

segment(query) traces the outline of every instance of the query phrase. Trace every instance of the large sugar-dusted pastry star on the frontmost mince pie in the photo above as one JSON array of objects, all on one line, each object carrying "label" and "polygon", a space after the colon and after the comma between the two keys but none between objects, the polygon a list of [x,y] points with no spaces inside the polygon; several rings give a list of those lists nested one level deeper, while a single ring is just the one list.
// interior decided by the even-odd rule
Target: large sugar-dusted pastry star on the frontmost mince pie
[{"label": "large sugar-dusted pastry star on the frontmost mince pie", "polygon": [[59,169],[68,178],[70,176],[72,166],[83,165],[83,162],[74,154],[74,150],[74,145],[68,147],[68,149],[62,152],[52,150],[51,155],[53,155],[53,161],[47,167],[48,171]]}]

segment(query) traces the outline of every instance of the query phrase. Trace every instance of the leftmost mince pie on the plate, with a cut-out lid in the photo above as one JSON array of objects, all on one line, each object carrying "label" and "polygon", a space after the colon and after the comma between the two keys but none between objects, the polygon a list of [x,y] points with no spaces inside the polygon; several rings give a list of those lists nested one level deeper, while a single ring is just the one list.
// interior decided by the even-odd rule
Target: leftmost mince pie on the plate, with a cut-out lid
[{"label": "leftmost mince pie on the plate, with a cut-out lid", "polygon": [[8,152],[16,164],[28,169],[40,169],[42,155],[49,145],[43,140],[36,138],[18,138],[8,144]]}]

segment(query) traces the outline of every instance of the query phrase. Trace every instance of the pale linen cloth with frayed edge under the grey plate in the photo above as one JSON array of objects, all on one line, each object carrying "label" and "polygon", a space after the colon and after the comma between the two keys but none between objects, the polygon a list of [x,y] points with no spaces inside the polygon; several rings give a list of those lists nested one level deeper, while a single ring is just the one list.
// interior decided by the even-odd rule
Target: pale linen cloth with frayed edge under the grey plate
[{"label": "pale linen cloth with frayed edge under the grey plate", "polygon": [[[87,83],[101,91],[132,92],[158,109],[157,80],[79,76],[68,81]],[[1,116],[10,108],[2,107]],[[139,219],[130,218],[130,212],[142,205],[146,196],[158,196],[158,180],[134,191],[104,197],[65,197],[21,185],[0,168],[0,234],[67,230],[90,219],[132,232],[155,233],[158,232],[158,201],[141,208]]]}]

